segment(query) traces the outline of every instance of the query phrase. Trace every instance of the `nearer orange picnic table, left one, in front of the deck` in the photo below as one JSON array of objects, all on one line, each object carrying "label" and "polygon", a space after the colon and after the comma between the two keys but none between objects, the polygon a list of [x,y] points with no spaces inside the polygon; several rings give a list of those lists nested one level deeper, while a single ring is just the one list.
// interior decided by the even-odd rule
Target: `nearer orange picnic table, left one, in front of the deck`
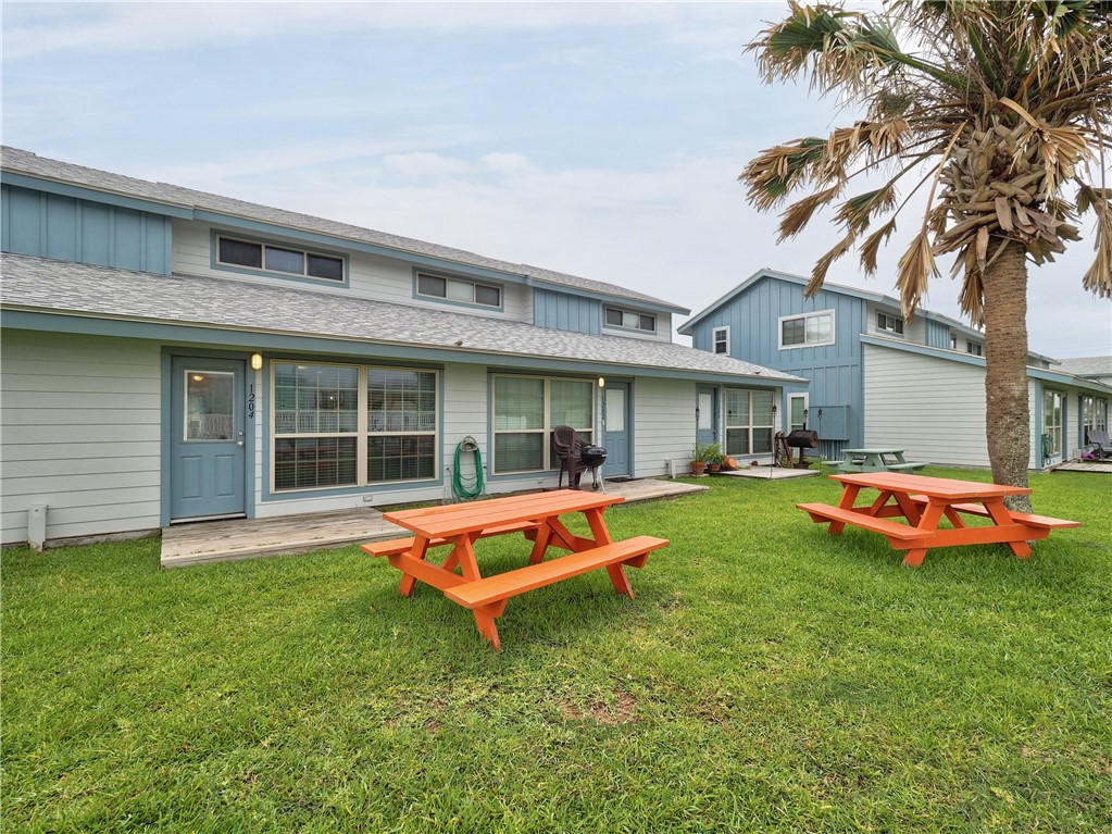
[{"label": "nearer orange picnic table, left one, in front of the deck", "polygon": [[[619,495],[560,489],[385,513],[386,520],[414,535],[375,542],[363,549],[371,556],[386,556],[401,572],[403,596],[409,596],[419,580],[473,609],[479,634],[500,651],[495,619],[502,616],[510,597],[526,590],[605,567],[614,589],[633,598],[625,567],[643,567],[648,554],[668,542],[654,536],[615,542],[603,513],[623,500]],[[575,513],[586,517],[590,537],[573,534],[560,520],[560,516]],[[476,540],[515,533],[524,533],[532,542],[528,564],[484,577],[475,555]],[[451,550],[437,565],[428,559],[429,549],[441,545],[451,545]],[[566,553],[546,558],[550,548]]]}]

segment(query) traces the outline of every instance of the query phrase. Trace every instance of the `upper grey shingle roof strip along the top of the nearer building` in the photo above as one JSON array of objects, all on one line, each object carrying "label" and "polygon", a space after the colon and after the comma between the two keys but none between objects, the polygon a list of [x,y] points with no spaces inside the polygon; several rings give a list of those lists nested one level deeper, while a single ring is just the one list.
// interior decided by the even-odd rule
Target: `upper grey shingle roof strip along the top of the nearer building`
[{"label": "upper grey shingle roof strip along the top of the nearer building", "polygon": [[208,193],[206,191],[195,191],[191,188],[173,186],[167,182],[150,182],[148,180],[126,177],[120,173],[86,168],[83,166],[71,165],[56,159],[48,159],[19,148],[3,146],[0,148],[0,167],[13,173],[22,173],[29,177],[49,179],[68,185],[83,186],[99,191],[107,191],[136,199],[150,200],[177,208],[191,210],[212,211],[220,215],[230,215],[238,218],[257,220],[260,222],[286,226],[291,229],[312,231],[320,235],[345,238],[360,244],[379,246],[395,249],[399,252],[423,255],[455,264],[463,264],[481,269],[492,269],[512,276],[529,278],[557,287],[569,287],[573,289],[599,292],[615,298],[625,298],[631,301],[656,305],[671,309],[675,312],[687,314],[691,310],[686,307],[665,301],[653,296],[638,292],[633,289],[619,287],[605,281],[596,281],[589,278],[580,278],[565,272],[556,272],[528,264],[510,264],[509,261],[487,258],[483,255],[454,249],[438,244],[429,244],[424,240],[415,240],[398,235],[390,235],[375,229],[365,229],[350,224],[326,220],[320,217],[301,215],[296,211],[260,206],[254,202],[236,200],[230,197]]}]

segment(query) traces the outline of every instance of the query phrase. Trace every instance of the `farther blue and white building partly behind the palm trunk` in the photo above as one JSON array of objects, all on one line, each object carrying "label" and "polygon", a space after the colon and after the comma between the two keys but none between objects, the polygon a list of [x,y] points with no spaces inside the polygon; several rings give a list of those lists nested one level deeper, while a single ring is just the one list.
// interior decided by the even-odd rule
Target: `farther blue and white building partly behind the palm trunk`
[{"label": "farther blue and white building partly behind the palm trunk", "polygon": [[[930,310],[905,321],[898,299],[831,282],[804,298],[806,284],[762,269],[678,332],[698,350],[808,379],[806,391],[785,391],[783,428],[818,431],[824,457],[898,446],[986,466],[983,334]],[[1075,457],[1089,429],[1108,426],[1112,388],[1055,364],[1027,359],[1035,468]]]}]

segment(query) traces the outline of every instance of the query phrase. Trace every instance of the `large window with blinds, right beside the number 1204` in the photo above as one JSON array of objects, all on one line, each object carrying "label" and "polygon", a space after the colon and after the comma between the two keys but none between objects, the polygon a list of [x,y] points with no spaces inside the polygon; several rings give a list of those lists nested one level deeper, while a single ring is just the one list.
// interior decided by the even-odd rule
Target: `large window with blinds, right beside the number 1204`
[{"label": "large window with blinds, right beside the number 1204", "polygon": [[272,374],[275,492],[436,477],[435,370],[275,363]]}]

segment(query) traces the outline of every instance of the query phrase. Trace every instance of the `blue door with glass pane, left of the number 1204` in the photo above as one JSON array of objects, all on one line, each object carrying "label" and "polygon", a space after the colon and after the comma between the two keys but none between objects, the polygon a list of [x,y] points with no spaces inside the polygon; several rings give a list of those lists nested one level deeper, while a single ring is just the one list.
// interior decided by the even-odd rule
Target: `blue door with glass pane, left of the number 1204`
[{"label": "blue door with glass pane, left of the number 1204", "polygon": [[170,365],[170,519],[244,515],[244,363],[176,356]]}]

